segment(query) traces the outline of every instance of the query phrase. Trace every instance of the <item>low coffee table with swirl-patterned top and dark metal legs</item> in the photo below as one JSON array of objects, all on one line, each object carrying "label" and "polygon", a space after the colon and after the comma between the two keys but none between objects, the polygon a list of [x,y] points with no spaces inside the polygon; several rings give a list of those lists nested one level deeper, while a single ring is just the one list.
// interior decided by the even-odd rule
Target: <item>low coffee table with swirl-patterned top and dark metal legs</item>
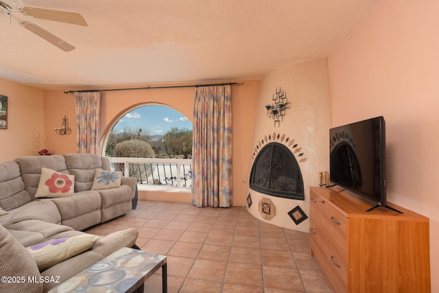
[{"label": "low coffee table with swirl-patterned top and dark metal legs", "polygon": [[121,248],[49,292],[142,292],[145,281],[162,268],[162,289],[167,292],[165,255]]}]

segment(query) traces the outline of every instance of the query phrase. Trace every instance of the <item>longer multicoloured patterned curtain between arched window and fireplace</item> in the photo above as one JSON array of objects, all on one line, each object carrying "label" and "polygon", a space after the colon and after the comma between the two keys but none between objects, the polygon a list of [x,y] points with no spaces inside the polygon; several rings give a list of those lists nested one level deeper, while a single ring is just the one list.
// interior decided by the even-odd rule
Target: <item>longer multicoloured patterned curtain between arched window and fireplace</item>
[{"label": "longer multicoloured patterned curtain between arched window and fireplace", "polygon": [[230,85],[198,87],[194,100],[192,204],[230,207],[233,204]]}]

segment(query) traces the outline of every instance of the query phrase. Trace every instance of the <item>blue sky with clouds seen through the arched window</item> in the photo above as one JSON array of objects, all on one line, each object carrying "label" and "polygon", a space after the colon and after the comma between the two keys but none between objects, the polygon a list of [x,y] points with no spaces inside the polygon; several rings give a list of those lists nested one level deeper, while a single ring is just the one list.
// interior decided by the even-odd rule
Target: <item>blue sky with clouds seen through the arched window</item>
[{"label": "blue sky with clouds seen through the arched window", "polygon": [[192,129],[192,123],[182,113],[167,106],[141,106],[123,116],[113,128],[116,132],[142,128],[144,133],[165,134],[173,127]]}]

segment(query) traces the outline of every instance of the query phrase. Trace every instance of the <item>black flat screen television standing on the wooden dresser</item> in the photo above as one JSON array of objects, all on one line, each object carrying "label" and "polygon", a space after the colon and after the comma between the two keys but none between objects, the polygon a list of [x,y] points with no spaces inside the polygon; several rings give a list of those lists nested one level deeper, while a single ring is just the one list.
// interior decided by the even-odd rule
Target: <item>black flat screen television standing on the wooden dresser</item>
[{"label": "black flat screen television standing on the wooden dresser", "polygon": [[[385,121],[382,116],[329,130],[329,179],[388,207],[385,196]],[[396,211],[396,210],[395,210]]]}]

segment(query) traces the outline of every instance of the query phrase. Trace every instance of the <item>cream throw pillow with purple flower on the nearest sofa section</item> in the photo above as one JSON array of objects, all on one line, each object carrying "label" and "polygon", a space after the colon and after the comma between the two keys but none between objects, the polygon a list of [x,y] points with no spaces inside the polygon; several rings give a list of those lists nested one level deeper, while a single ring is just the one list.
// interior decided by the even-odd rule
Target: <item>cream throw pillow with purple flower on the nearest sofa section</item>
[{"label": "cream throw pillow with purple flower on the nearest sofa section", "polygon": [[66,259],[79,255],[88,250],[99,239],[99,236],[82,234],[73,237],[51,239],[47,242],[28,247],[29,253],[34,257],[38,269],[47,270]]}]

